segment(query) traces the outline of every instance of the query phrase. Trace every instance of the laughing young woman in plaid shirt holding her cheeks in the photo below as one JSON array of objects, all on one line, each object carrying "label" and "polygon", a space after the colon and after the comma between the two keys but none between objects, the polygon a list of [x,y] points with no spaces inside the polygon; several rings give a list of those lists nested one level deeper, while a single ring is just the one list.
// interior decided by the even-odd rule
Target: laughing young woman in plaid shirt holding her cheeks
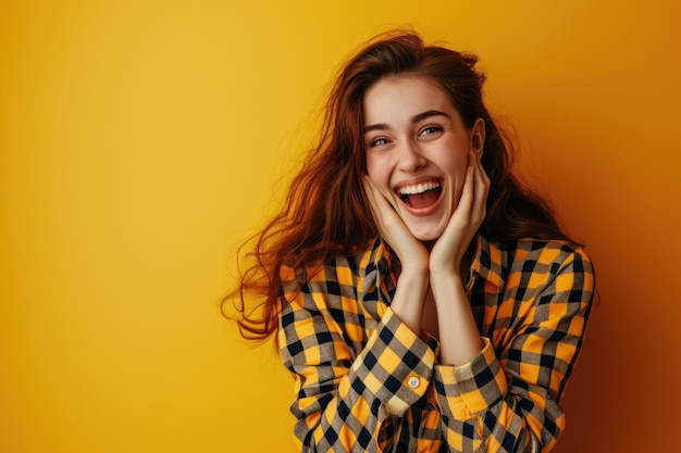
[{"label": "laughing young woman in plaid shirt holding her cheeks", "polygon": [[277,334],[304,452],[546,452],[565,426],[593,268],[511,174],[475,61],[362,49],[257,237],[239,325]]}]

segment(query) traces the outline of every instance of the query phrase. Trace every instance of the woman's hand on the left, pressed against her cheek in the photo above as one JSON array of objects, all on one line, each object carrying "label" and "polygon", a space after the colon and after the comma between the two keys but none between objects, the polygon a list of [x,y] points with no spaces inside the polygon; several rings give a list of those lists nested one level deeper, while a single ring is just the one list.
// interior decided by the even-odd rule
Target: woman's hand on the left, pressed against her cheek
[{"label": "woman's hand on the left, pressed against her cheek", "polygon": [[425,246],[413,237],[369,176],[364,176],[364,191],[379,232],[397,253],[403,272],[409,268],[428,275],[429,254]]}]

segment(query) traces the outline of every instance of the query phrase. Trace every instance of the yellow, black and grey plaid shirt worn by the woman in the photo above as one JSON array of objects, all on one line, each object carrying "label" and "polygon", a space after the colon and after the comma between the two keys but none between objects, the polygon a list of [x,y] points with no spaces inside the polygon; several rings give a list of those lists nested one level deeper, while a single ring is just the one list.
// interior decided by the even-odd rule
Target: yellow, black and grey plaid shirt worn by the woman
[{"label": "yellow, black and grey plaid shirt worn by the woman", "polygon": [[479,235],[466,288],[484,347],[460,366],[439,365],[437,341],[391,310],[392,261],[377,239],[325,266],[282,270],[278,344],[301,451],[550,450],[591,307],[584,251]]}]

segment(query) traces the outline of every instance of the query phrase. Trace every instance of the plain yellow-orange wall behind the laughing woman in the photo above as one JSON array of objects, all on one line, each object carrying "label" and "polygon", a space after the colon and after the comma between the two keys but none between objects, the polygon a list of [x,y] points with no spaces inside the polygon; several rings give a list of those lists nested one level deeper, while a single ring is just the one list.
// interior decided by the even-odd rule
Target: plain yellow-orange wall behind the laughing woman
[{"label": "plain yellow-orange wall behind the laughing woman", "polygon": [[3,1],[0,451],[293,452],[290,379],[215,300],[338,62],[404,24],[482,56],[596,262],[557,451],[670,451],[677,4]]}]

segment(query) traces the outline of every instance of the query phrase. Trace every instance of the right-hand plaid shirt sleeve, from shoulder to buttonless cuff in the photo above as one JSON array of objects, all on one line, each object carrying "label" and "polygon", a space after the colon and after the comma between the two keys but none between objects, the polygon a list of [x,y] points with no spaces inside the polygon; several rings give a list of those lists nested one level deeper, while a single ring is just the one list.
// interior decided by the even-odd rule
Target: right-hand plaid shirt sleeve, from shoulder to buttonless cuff
[{"label": "right-hand plaid shirt sleeve, from shoulder to buttonless cuff", "polygon": [[565,427],[558,400],[581,347],[593,287],[591,262],[578,250],[535,291],[510,338],[496,339],[502,348],[495,352],[483,338],[482,352],[468,364],[434,366],[450,451],[553,449]]}]

